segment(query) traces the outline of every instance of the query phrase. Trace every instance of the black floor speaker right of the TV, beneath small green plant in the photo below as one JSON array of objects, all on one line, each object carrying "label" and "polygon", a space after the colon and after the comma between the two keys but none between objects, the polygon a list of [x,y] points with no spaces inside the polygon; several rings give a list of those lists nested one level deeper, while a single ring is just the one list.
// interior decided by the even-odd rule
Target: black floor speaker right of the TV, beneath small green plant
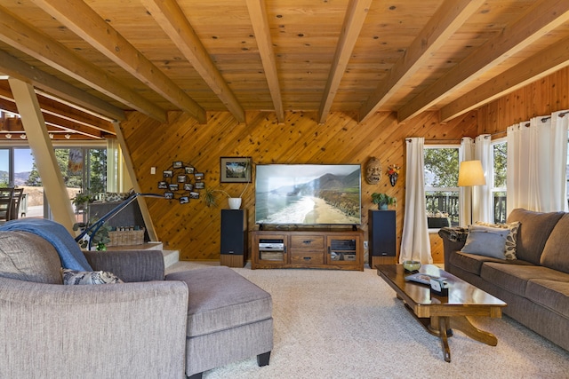
[{"label": "black floor speaker right of the TV, beneath small green plant", "polygon": [[367,218],[369,257],[396,256],[395,216],[395,210],[369,210]]}]

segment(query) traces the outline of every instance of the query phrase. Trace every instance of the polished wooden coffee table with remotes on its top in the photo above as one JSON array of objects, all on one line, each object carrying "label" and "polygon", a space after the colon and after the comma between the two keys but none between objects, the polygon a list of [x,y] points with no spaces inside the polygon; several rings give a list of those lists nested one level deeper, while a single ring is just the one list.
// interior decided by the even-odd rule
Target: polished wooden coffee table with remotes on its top
[{"label": "polished wooden coffee table with remotes on its top", "polygon": [[422,265],[420,272],[445,277],[449,283],[448,296],[436,295],[429,285],[405,281],[409,272],[405,272],[403,265],[376,265],[375,268],[421,325],[430,334],[440,337],[445,361],[451,361],[448,337],[453,336],[453,329],[491,346],[498,343],[496,336],[472,325],[469,317],[500,318],[501,309],[507,305],[500,299],[436,265]]}]

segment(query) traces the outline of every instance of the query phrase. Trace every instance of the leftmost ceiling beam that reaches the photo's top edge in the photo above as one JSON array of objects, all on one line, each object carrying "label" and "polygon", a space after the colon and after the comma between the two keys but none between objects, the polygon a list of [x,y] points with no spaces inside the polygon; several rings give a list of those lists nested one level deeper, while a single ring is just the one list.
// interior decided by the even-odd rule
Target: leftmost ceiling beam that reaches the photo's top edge
[{"label": "leftmost ceiling beam that reaches the photo's top edge", "polygon": [[188,112],[198,122],[206,122],[204,108],[182,91],[172,79],[138,51],[132,43],[129,43],[124,36],[108,25],[108,22],[103,20],[89,5],[83,1],[33,1],[34,4],[51,14],[77,36],[83,38],[108,59],[123,67],[129,74],[148,85],[174,106]]}]

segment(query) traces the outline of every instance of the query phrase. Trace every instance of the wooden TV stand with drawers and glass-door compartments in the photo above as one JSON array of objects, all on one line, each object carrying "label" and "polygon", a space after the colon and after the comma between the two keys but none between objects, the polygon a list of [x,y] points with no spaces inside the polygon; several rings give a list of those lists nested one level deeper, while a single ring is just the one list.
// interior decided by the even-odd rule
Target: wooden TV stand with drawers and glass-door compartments
[{"label": "wooden TV stand with drawers and glass-door compartments", "polygon": [[352,230],[253,231],[251,268],[364,271],[363,241],[364,233]]}]

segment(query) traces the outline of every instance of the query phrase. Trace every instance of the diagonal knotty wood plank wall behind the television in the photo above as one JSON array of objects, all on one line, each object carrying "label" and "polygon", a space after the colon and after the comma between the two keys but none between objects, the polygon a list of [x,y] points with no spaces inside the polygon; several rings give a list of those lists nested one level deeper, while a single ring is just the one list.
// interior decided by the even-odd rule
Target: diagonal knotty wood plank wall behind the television
[{"label": "diagonal knotty wood plank wall behind the television", "polygon": [[[223,189],[236,196],[244,184],[220,184],[221,156],[251,156],[253,163],[360,163],[377,157],[383,175],[379,185],[362,179],[362,229],[367,240],[367,210],[376,207],[371,193],[386,192],[396,196],[397,249],[403,230],[405,210],[405,138],[424,137],[426,143],[437,140],[457,142],[463,136],[475,137],[477,113],[470,112],[441,124],[434,112],[420,114],[411,122],[397,124],[394,114],[378,113],[367,122],[355,121],[355,114],[330,114],[325,124],[317,123],[316,113],[288,112],[279,124],[273,113],[247,113],[246,122],[238,123],[226,112],[208,114],[200,125],[188,114],[170,113],[161,124],[140,113],[128,114],[121,124],[140,188],[158,191],[162,170],[173,161],[192,164],[205,173],[205,185]],[[389,164],[402,166],[395,187],[385,174]],[[156,167],[156,175],[150,168]],[[253,172],[254,174],[254,172]],[[183,260],[218,260],[220,258],[220,208],[207,208],[204,201],[179,201],[146,198],[150,216],[160,241],[166,249],[179,249]],[[249,230],[254,225],[254,183],[246,186],[242,209],[247,209]],[[436,237],[438,239],[438,236]],[[437,244],[437,241],[434,242]],[[434,256],[442,256],[442,250]],[[437,258],[436,258],[437,261]],[[439,259],[440,262],[440,259]]]}]

